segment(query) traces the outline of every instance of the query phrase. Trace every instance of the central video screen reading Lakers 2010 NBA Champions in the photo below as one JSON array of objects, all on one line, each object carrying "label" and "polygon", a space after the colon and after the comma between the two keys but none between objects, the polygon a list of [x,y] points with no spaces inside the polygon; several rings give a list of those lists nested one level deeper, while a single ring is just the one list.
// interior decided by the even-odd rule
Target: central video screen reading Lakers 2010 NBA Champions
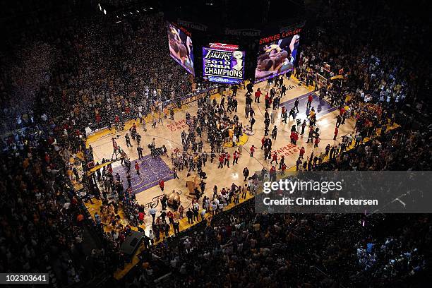
[{"label": "central video screen reading Lakers 2010 NBA Champions", "polygon": [[204,80],[217,83],[236,84],[244,79],[245,52],[237,45],[210,43],[203,47]]}]

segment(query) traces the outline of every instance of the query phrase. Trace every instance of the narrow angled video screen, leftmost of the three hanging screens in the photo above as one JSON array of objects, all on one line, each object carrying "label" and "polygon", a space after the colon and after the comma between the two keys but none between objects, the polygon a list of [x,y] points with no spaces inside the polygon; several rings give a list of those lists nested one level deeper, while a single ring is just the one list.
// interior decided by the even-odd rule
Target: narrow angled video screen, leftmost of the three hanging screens
[{"label": "narrow angled video screen, leftmost of the three hanging screens", "polygon": [[186,71],[195,76],[191,35],[187,30],[177,28],[167,21],[169,55]]}]

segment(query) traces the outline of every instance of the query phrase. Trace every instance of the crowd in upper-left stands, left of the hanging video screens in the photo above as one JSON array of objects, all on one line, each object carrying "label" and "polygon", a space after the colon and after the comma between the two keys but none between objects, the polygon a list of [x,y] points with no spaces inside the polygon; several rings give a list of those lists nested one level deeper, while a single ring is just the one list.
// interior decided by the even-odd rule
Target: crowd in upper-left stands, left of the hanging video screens
[{"label": "crowd in upper-left stands, left of the hanging video screens", "polygon": [[[162,53],[167,51],[167,41],[160,37],[163,17],[143,16],[131,23],[113,27],[101,18],[77,21],[48,31],[42,35],[44,42],[23,35],[23,48],[13,52],[23,63],[6,64],[8,73],[1,79],[2,97],[10,102],[4,107],[4,126],[23,126],[35,114],[61,115],[84,132],[88,126],[97,129],[138,119],[159,102],[191,92],[188,74]],[[18,101],[11,92],[28,99]],[[34,111],[35,102],[42,111]]]}]

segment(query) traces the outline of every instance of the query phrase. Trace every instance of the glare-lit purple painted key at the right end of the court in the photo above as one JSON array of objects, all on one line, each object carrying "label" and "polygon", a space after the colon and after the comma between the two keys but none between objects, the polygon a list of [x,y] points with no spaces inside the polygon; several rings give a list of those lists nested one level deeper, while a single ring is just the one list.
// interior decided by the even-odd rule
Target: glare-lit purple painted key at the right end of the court
[{"label": "glare-lit purple painted key at the right end of the court", "polygon": [[306,116],[309,114],[309,112],[311,112],[310,109],[306,108],[306,103],[308,102],[308,96],[312,94],[312,107],[315,109],[316,112],[316,116],[324,116],[325,114],[328,114],[330,112],[333,112],[336,110],[335,107],[332,107],[332,105],[330,105],[329,102],[323,100],[322,98],[320,98],[318,95],[316,95],[313,92],[309,92],[307,94],[304,95],[300,95],[299,97],[296,97],[292,100],[288,100],[285,102],[282,102],[280,104],[280,107],[284,106],[287,107],[288,112],[289,110],[294,107],[294,102],[296,101],[296,99],[299,99],[299,110],[300,112],[296,114],[296,118],[301,118],[301,119],[305,119]]}]

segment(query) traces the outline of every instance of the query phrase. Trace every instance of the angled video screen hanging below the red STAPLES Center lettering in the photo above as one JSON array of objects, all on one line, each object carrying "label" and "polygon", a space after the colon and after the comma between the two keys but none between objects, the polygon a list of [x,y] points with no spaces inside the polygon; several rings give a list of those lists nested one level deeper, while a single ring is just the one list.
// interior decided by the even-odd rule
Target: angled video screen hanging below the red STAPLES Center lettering
[{"label": "angled video screen hanging below the red STAPLES Center lettering", "polygon": [[260,40],[255,83],[294,70],[300,40],[298,32],[284,32]]}]

